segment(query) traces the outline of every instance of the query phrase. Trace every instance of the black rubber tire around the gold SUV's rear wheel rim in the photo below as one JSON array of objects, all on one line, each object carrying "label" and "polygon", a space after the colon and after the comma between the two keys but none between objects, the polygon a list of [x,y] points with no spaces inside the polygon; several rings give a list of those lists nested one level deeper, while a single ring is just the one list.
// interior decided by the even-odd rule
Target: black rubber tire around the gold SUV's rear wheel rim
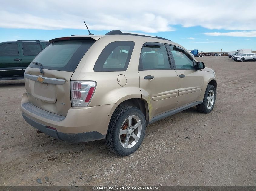
[{"label": "black rubber tire around the gold SUV's rear wheel rim", "polygon": [[[127,119],[131,115],[135,115],[141,120],[141,135],[140,138],[138,139],[138,142],[133,147],[125,148],[120,143],[119,132],[125,119]],[[105,138],[105,144],[111,152],[120,156],[127,156],[135,152],[139,148],[145,136],[145,132],[146,120],[141,110],[131,106],[120,106],[114,111],[110,119],[107,135]]]}]

